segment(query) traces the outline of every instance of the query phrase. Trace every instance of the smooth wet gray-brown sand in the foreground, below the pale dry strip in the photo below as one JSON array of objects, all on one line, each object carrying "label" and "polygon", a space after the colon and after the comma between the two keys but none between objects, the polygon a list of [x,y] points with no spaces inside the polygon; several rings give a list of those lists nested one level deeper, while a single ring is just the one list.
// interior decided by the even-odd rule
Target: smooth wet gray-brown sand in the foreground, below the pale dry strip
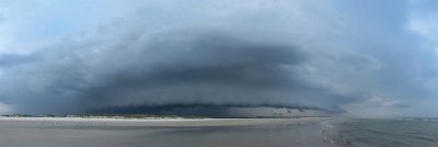
[{"label": "smooth wet gray-brown sand in the foreground, below the pale dry strip", "polygon": [[192,128],[0,127],[1,147],[319,147],[322,125]]}]

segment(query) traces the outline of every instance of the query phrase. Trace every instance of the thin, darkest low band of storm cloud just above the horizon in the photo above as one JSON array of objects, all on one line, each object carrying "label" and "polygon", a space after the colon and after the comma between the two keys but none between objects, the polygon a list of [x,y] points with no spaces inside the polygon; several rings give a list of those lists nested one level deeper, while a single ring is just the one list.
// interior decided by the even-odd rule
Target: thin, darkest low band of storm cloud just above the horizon
[{"label": "thin, darkest low band of storm cloud just above the horizon", "polygon": [[[246,113],[237,111],[251,110]],[[344,113],[344,110],[331,108],[321,109],[306,105],[290,104],[211,104],[211,103],[166,103],[162,105],[129,105],[129,106],[108,106],[88,111],[92,114],[157,114],[157,115],[180,115],[180,116],[209,116],[209,117],[255,117],[255,116],[297,116],[290,114],[291,111],[307,113],[308,111],[320,112],[319,115]],[[277,111],[279,111],[277,113]],[[266,115],[267,113],[267,115]],[[285,114],[283,114],[285,113]],[[308,116],[311,113],[307,113]],[[318,114],[316,114],[318,115]]]}]

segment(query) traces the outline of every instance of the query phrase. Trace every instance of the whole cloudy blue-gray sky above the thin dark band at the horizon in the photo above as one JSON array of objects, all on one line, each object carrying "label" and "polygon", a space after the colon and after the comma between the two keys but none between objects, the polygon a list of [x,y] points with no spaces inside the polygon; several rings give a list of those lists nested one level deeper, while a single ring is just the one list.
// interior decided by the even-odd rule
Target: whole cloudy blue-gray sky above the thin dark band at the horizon
[{"label": "whole cloudy blue-gray sky above the thin dark band at the horizon", "polygon": [[207,103],[438,116],[437,7],[0,0],[0,114]]}]

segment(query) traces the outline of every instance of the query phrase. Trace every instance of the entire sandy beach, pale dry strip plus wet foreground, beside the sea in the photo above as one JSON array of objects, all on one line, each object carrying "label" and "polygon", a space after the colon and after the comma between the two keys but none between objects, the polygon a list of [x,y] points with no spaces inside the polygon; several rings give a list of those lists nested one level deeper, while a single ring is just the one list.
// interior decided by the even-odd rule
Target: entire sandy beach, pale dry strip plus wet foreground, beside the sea
[{"label": "entire sandy beach, pale dry strip plus wet foreground, beside the sea", "polygon": [[322,121],[300,118],[0,117],[5,147],[335,147]]}]

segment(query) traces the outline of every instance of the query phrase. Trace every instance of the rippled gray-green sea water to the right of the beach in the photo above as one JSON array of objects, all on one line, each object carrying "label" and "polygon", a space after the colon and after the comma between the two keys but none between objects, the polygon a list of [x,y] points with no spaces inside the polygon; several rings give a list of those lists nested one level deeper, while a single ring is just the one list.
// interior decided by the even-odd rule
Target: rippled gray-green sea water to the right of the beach
[{"label": "rippled gray-green sea water to the right of the beach", "polygon": [[438,147],[438,120],[348,120],[326,128],[326,136],[355,147]]}]

